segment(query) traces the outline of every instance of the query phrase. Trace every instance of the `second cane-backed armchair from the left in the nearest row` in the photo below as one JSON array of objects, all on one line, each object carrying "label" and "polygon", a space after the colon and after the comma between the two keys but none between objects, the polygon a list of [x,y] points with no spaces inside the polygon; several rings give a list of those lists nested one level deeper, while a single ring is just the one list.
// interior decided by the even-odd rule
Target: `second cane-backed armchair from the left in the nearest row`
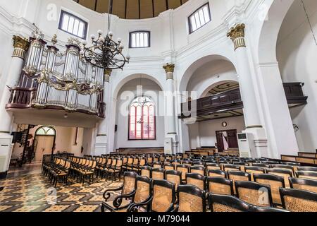
[{"label": "second cane-backed armchair from the left in the nearest row", "polygon": [[[152,179],[149,177],[141,177],[137,176],[136,181],[136,189],[135,191],[127,196],[118,196],[118,198],[130,198],[131,203],[128,207],[119,207],[114,212],[130,212],[130,211],[139,211],[139,212],[147,212],[149,206],[147,203],[151,199],[151,187],[152,187]],[[138,208],[136,208],[138,207]]]}]

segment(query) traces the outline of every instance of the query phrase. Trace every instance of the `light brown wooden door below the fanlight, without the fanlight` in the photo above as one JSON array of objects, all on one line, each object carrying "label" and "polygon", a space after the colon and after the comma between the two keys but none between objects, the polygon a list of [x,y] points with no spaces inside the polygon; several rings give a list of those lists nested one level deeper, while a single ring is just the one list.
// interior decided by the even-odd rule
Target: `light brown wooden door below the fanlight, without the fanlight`
[{"label": "light brown wooden door below the fanlight, without the fanlight", "polygon": [[51,155],[54,145],[54,136],[37,136],[35,162],[42,162],[43,155]]}]

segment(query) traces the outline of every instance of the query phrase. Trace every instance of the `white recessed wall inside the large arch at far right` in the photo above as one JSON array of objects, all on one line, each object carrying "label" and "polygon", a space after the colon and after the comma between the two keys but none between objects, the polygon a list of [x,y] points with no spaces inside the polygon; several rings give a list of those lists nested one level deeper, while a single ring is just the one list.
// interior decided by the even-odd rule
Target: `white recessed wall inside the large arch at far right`
[{"label": "white recessed wall inside the large arch at far right", "polygon": [[[304,4],[317,35],[317,1],[304,0]],[[291,109],[290,112],[293,123],[299,126],[299,131],[296,133],[299,149],[315,152],[317,148],[317,46],[301,1],[294,1],[282,23],[277,54],[282,81],[305,83],[303,90],[309,97],[308,104]]]}]

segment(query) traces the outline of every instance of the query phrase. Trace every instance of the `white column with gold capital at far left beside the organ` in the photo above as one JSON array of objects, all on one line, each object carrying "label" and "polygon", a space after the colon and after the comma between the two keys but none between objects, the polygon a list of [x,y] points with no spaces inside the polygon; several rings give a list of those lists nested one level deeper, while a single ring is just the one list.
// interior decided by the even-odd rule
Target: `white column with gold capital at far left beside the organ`
[{"label": "white column with gold capital at far left beside the organ", "polygon": [[[23,69],[25,54],[29,46],[30,43],[28,40],[20,36],[13,36],[13,55],[6,79],[6,87],[13,87],[18,84]],[[0,179],[1,177],[6,177],[13,147],[11,144],[12,136],[10,134],[13,116],[11,112],[6,111],[6,105],[8,104],[10,95],[10,91],[5,88],[0,97],[0,155],[6,157],[4,163],[0,162]]]}]

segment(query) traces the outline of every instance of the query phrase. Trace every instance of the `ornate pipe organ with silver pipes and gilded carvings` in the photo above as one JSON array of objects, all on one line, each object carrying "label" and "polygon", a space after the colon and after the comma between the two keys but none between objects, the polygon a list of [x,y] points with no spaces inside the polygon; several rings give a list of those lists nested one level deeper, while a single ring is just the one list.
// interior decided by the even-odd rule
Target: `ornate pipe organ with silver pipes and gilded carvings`
[{"label": "ornate pipe organ with silver pipes and gilded carvings", "polygon": [[[20,87],[37,88],[32,102],[38,108],[62,108],[70,112],[97,114],[104,107],[104,69],[81,56],[80,42],[68,40],[66,52],[55,46],[56,36],[46,45],[41,37],[30,38],[30,51],[20,78]],[[100,116],[99,117],[104,117]]]}]

